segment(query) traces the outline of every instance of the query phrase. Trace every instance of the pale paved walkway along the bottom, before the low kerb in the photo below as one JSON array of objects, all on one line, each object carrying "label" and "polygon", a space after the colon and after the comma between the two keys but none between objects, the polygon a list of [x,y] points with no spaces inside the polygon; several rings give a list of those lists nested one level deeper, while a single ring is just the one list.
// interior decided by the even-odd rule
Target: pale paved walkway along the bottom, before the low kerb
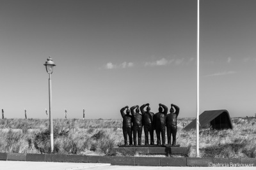
[{"label": "pale paved walkway along the bottom, before the low kerb", "polygon": [[0,161],[1,170],[250,170],[255,167],[156,167],[156,166],[110,166],[110,164],[67,163],[67,162],[22,162]]}]

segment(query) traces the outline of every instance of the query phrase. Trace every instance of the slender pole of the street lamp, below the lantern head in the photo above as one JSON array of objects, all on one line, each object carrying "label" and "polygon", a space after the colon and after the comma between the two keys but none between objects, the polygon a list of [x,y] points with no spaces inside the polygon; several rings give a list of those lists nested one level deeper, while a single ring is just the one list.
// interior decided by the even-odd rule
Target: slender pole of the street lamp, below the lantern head
[{"label": "slender pole of the street lamp, below the lantern head", "polygon": [[49,74],[49,117],[50,117],[50,141],[51,141],[51,152],[53,152],[53,125],[52,125],[52,81],[51,73]]}]

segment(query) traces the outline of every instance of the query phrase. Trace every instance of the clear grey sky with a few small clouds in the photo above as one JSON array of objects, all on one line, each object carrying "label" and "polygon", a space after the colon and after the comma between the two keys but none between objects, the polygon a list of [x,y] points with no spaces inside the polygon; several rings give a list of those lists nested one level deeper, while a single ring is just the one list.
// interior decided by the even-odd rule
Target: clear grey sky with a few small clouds
[{"label": "clear grey sky with a few small clouds", "polygon": [[[120,119],[162,103],[196,117],[196,0],[2,0],[0,108],[6,118]],[[200,1],[200,113],[256,113],[256,1]]]}]

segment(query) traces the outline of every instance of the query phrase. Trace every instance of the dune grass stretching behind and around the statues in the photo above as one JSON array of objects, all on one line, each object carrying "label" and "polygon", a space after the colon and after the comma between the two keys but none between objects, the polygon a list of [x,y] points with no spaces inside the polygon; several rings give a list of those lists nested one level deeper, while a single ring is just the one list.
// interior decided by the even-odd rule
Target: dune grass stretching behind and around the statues
[{"label": "dune grass stretching behind and around the statues", "polygon": [[[192,120],[193,118],[180,118],[178,121],[177,143],[180,146],[188,146],[189,152],[186,155],[188,157],[195,157],[196,132],[183,131],[182,127]],[[200,157],[255,158],[255,120],[250,122],[239,120],[233,126],[233,130],[200,131]],[[3,119],[0,120],[0,131],[0,152],[49,153],[48,120]],[[156,141],[156,134],[154,138]],[[56,154],[113,155],[111,152],[113,146],[122,144],[124,144],[122,120],[54,120],[54,153]],[[115,153],[115,155],[141,156],[140,153]]]}]

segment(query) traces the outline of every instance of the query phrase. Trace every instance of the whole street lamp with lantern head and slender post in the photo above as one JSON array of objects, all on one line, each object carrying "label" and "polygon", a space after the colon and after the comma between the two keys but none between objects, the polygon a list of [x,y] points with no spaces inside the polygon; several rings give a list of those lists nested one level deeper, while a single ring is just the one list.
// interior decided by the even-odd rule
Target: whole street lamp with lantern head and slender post
[{"label": "whole street lamp with lantern head and slender post", "polygon": [[51,140],[51,152],[53,152],[53,125],[52,125],[52,114],[51,114],[51,108],[52,108],[52,82],[51,82],[51,74],[53,71],[53,67],[56,66],[54,62],[51,59],[51,56],[49,56],[49,59],[44,64],[47,73],[49,74],[49,120],[50,120],[50,140]]}]

